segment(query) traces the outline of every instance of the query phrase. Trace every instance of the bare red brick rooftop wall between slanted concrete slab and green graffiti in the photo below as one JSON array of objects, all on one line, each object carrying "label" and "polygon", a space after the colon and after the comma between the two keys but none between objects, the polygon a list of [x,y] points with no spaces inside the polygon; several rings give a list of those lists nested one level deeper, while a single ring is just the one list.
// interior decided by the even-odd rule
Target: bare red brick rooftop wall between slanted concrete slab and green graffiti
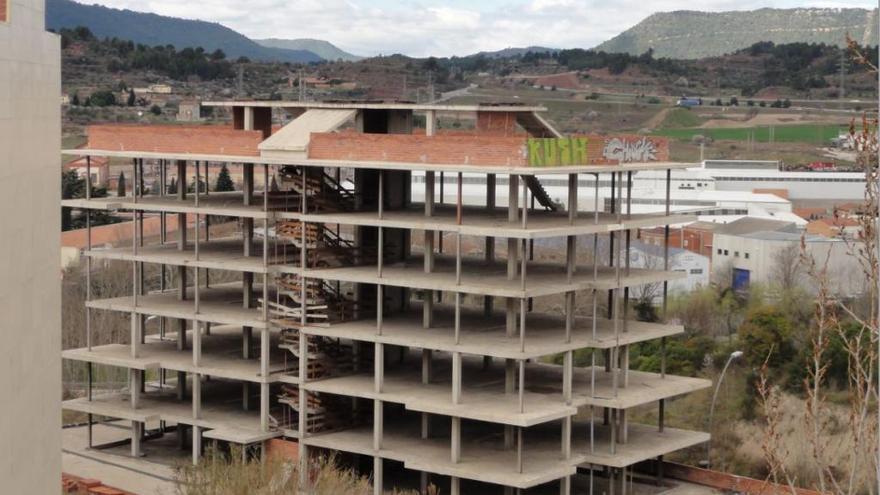
[{"label": "bare red brick rooftop wall between slanted concrete slab and green graffiti", "polygon": [[407,163],[526,165],[522,137],[313,133],[309,158]]}]

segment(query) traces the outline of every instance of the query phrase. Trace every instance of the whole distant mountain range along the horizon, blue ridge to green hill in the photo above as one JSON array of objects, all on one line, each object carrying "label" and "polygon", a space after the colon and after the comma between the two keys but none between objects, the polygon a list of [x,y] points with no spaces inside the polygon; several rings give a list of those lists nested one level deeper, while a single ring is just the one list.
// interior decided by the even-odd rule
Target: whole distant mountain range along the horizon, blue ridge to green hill
[{"label": "whole distant mountain range along the horizon, blue ridge to green hill", "polygon": [[[595,47],[613,53],[640,55],[649,49],[657,57],[697,59],[720,56],[760,41],[825,43],[842,46],[847,34],[863,45],[878,43],[877,10],[868,9],[759,9],[734,12],[676,11],[652,14],[642,22]],[[178,19],[72,0],[46,0],[46,27],[88,27],[98,37],[116,37],[145,45],[201,46],[223,50],[227,57],[261,61],[312,63],[356,61],[352,55],[324,40],[252,40],[214,22]],[[515,57],[532,52],[555,52],[541,46],[511,47],[476,55]]]}]

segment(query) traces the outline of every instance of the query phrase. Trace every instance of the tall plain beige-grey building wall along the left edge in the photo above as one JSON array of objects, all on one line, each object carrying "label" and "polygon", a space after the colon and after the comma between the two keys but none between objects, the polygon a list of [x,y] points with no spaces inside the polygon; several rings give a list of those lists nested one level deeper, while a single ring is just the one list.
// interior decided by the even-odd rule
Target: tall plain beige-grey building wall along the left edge
[{"label": "tall plain beige-grey building wall along the left edge", "polygon": [[0,22],[0,492],[60,493],[61,55],[43,0]]}]

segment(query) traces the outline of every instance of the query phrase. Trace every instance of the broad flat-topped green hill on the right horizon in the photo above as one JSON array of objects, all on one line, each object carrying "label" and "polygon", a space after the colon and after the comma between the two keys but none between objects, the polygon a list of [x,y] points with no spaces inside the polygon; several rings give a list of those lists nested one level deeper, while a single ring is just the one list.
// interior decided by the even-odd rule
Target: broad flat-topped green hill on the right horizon
[{"label": "broad flat-topped green hill on the right horizon", "polygon": [[759,9],[741,12],[676,11],[653,14],[597,46],[597,50],[695,59],[746,48],[759,41],[843,46],[847,33],[877,44],[877,11],[867,9]]}]

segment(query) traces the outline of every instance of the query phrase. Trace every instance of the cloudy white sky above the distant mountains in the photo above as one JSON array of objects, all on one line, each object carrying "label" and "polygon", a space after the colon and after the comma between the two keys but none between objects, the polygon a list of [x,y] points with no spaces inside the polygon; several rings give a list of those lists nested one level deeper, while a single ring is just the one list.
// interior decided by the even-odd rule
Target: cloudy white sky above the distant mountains
[{"label": "cloudy white sky above the distant mountains", "polygon": [[251,38],[318,38],[357,55],[591,48],[658,11],[876,7],[873,0],[78,0],[201,19]]}]

